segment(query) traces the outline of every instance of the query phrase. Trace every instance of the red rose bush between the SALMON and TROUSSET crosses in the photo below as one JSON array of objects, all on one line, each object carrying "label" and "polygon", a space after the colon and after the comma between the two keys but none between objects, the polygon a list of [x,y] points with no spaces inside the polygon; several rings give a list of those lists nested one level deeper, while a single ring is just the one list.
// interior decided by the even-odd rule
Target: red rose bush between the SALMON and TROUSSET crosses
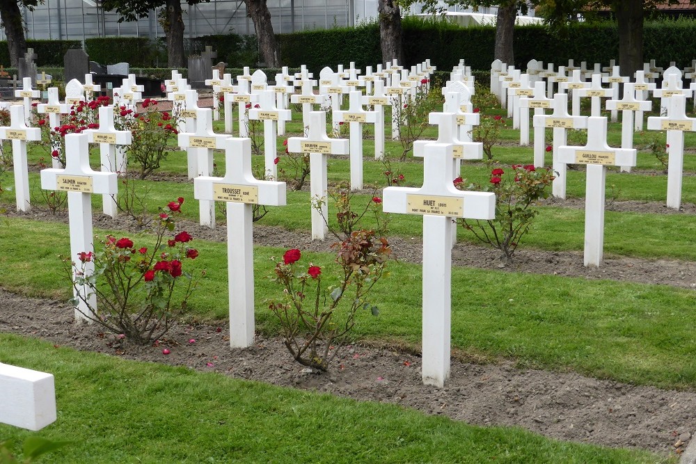
[{"label": "red rose bush between the SALMON and TROUSSET crosses", "polygon": [[[185,312],[198,284],[198,278],[187,271],[198,250],[191,246],[189,232],[166,237],[173,234],[173,216],[180,213],[183,202],[178,198],[159,211],[152,246],[136,244],[138,237],[108,235],[94,253],[63,258],[77,290],[72,303],[86,303],[86,318],[136,343],[148,344],[164,335],[173,319]],[[74,281],[73,273],[77,275]],[[90,304],[92,295],[97,297],[96,307]]]}]

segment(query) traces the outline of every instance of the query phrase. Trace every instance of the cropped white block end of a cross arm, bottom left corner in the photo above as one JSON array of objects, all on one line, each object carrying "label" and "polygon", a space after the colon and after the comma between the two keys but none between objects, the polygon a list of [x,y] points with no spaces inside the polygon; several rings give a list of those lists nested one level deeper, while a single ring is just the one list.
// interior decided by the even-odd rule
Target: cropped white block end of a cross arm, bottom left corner
[{"label": "cropped white block end of a cross arm, bottom left corner", "polygon": [[0,423],[37,431],[56,422],[52,374],[0,362]]}]

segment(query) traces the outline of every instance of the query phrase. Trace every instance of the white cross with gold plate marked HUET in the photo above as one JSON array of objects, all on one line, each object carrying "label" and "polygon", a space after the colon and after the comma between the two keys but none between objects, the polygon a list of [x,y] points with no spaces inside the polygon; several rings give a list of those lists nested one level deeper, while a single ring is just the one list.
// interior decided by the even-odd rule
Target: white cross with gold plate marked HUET
[{"label": "white cross with gold plate marked HUET", "polygon": [[423,216],[422,379],[442,387],[450,376],[452,298],[452,220],[489,220],[496,216],[496,195],[454,188],[452,145],[425,147],[423,186],[387,187],[387,213]]}]

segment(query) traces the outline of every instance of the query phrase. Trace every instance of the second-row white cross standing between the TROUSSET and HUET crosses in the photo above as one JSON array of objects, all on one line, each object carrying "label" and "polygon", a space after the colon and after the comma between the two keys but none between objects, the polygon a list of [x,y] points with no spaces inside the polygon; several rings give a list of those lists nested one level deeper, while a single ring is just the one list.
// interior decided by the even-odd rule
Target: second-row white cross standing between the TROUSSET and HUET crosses
[{"label": "second-row white cross standing between the TROUSSET and HUET crosses", "polygon": [[326,112],[312,111],[309,117],[307,136],[288,138],[287,151],[291,153],[309,153],[310,195],[313,202],[312,239],[324,240],[326,237],[324,218],[329,218],[326,155],[348,154],[349,141],[345,138],[330,138],[327,136]]}]

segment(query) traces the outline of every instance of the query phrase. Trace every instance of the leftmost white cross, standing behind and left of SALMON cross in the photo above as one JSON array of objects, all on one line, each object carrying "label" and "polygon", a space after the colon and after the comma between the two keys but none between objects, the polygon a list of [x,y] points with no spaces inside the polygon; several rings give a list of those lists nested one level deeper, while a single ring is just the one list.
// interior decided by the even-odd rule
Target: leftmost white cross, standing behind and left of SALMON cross
[{"label": "leftmost white cross, standing behind and left of SALMON cross", "polygon": [[10,127],[0,127],[0,141],[3,140],[12,141],[17,211],[29,211],[31,205],[29,200],[29,166],[26,161],[26,141],[40,141],[41,129],[26,125],[24,106],[10,106]]}]

